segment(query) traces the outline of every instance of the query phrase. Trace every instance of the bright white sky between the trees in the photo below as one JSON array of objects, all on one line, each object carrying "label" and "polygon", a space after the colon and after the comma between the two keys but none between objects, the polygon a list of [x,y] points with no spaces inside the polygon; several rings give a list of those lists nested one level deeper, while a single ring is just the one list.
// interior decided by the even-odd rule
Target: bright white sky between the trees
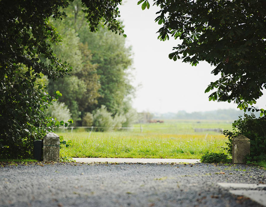
[{"label": "bright white sky between the trees", "polygon": [[[156,12],[151,6],[142,11],[137,0],[124,1],[119,7],[121,20],[125,25],[127,44],[134,52],[134,85],[137,87],[133,107],[137,111],[158,113],[185,110],[211,111],[216,109],[237,109],[237,105],[227,102],[209,101],[210,93],[204,91],[211,81],[218,77],[211,74],[212,67],[200,62],[196,67],[182,60],[174,62],[168,58],[177,40],[159,41]],[[257,102],[259,108],[265,108],[266,96]]]}]

